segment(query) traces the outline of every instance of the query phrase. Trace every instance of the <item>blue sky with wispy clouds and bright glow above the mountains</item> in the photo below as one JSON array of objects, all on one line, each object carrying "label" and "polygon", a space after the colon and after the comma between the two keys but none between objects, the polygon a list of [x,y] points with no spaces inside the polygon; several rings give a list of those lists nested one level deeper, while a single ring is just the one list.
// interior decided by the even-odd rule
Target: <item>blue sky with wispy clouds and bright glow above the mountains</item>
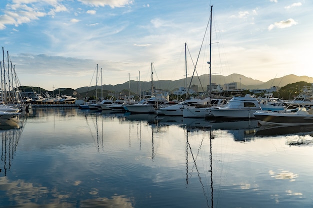
[{"label": "blue sky with wispy clouds and bright glow above the mountains", "polygon": [[151,81],[151,63],[153,80],[208,74],[209,46],[213,75],[312,77],[312,10],[311,0],[1,0],[0,45],[6,71],[8,59],[21,85],[46,90]]}]

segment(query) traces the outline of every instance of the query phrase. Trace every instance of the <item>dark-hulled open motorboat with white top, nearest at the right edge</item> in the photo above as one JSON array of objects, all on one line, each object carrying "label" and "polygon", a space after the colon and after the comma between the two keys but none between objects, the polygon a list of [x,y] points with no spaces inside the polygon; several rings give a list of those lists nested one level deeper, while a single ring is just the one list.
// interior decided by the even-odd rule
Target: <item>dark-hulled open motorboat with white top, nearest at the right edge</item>
[{"label": "dark-hulled open motorboat with white top, nearest at the right edge", "polygon": [[261,125],[307,125],[313,124],[313,107],[289,104],[281,112],[256,111],[253,116]]}]

